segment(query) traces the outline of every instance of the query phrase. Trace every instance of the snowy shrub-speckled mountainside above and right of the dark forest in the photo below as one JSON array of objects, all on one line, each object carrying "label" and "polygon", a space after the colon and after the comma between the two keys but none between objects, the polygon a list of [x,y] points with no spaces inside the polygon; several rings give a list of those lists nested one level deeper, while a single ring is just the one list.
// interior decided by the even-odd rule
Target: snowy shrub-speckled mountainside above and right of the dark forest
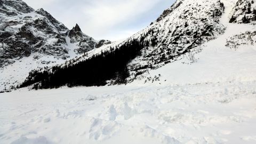
[{"label": "snowy shrub-speckled mountainside above and right of the dark forest", "polygon": [[131,71],[145,65],[157,68],[163,65],[163,62],[171,62],[177,55],[222,34],[225,27],[219,23],[219,18],[223,10],[224,6],[219,0],[200,0],[196,3],[188,0],[177,1],[150,26],[137,34],[113,45],[102,46],[100,50],[91,51],[90,54],[84,54],[73,61],[83,61],[101,51],[130,44],[136,39],[145,45],[148,43],[148,46],[143,50],[146,53],[137,58],[138,62],[129,66]]}]

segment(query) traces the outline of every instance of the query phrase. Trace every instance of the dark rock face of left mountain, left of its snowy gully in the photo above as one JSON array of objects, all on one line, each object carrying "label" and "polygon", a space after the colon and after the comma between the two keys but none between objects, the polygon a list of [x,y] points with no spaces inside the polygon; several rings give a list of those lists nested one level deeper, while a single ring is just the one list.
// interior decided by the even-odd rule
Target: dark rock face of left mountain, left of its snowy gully
[{"label": "dark rock face of left mountain, left of its snowy gully", "polygon": [[43,9],[34,11],[22,1],[1,3],[0,67],[35,52],[67,58],[67,27]]}]

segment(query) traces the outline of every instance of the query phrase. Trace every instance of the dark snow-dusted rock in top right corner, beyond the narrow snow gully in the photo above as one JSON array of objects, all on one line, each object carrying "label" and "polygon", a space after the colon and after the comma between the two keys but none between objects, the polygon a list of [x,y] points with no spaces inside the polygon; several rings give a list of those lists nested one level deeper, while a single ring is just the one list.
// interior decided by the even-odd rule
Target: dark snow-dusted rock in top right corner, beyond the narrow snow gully
[{"label": "dark snow-dusted rock in top right corner, beyond the narrow snow gully", "polygon": [[255,0],[238,0],[234,6],[230,23],[251,23],[256,24],[256,2]]}]

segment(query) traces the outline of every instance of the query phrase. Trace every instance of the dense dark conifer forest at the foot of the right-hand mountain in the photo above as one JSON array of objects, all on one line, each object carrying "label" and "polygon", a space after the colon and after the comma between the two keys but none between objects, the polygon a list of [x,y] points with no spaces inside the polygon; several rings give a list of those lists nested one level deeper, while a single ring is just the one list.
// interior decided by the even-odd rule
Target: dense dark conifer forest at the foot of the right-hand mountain
[{"label": "dense dark conifer forest at the foot of the right-hand mountain", "polygon": [[76,64],[54,66],[52,70],[33,70],[19,87],[34,84],[34,89],[53,89],[61,86],[102,86],[115,79],[116,84],[126,83],[130,76],[127,63],[141,55],[148,42],[132,39],[119,47],[110,47],[89,59]]}]

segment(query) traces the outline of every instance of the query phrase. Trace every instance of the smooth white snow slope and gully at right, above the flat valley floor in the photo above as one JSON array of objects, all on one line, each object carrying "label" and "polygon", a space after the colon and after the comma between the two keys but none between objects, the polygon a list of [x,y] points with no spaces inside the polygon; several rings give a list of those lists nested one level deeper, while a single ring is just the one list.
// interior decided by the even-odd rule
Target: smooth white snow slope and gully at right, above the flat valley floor
[{"label": "smooth white snow slope and gully at right, above the flat valley floor", "polygon": [[[229,14],[234,9],[235,2],[223,3],[225,13],[220,19],[220,23],[226,27],[223,35],[196,47],[194,52],[187,53],[179,61],[149,70],[149,74],[138,77],[142,80],[135,83],[152,83],[156,78],[154,83],[157,84],[255,81],[256,27],[250,24],[229,23]],[[194,55],[195,62],[189,59],[191,54]]]}]

